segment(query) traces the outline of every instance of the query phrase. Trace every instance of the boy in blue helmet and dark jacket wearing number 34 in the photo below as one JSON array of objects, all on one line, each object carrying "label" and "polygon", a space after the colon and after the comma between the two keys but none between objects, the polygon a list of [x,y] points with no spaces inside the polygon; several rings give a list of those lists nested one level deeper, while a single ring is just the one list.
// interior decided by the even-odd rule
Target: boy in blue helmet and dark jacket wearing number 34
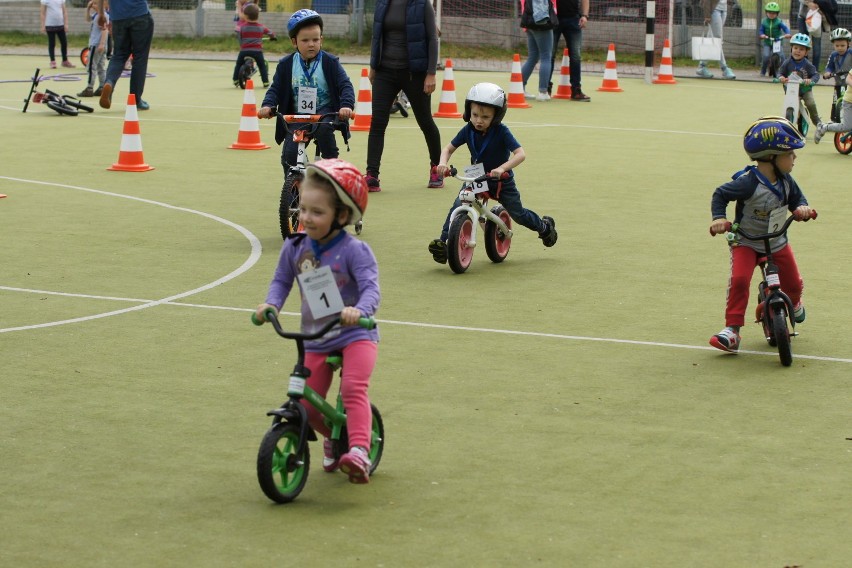
[{"label": "boy in blue helmet and dark jacket wearing number 34", "polygon": [[[272,85],[263,97],[259,118],[281,114],[328,114],[336,112],[342,119],[352,116],[355,90],[340,59],[322,50],[322,17],[313,10],[298,10],[287,22],[287,32],[295,52],[283,57],[275,69]],[[281,165],[286,179],[291,165],[296,164],[298,146],[287,134],[284,122],[275,125],[275,142],[284,146]],[[340,150],[331,125],[321,124],[314,133],[324,159],[337,158]]]}]

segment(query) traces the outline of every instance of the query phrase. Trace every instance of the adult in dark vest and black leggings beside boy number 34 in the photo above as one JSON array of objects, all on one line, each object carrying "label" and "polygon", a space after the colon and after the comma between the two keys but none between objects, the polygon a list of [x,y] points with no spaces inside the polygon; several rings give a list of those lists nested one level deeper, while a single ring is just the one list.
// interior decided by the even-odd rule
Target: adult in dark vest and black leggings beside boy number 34
[{"label": "adult in dark vest and black leggings beside boy number 34", "polygon": [[429,148],[428,187],[443,187],[435,166],[441,158],[441,134],[432,119],[432,93],[438,66],[438,29],[432,3],[426,0],[378,0],[373,16],[370,83],[373,117],[367,138],[367,185],[381,191],[379,169],[385,130],[397,93],[411,103],[417,125]]}]

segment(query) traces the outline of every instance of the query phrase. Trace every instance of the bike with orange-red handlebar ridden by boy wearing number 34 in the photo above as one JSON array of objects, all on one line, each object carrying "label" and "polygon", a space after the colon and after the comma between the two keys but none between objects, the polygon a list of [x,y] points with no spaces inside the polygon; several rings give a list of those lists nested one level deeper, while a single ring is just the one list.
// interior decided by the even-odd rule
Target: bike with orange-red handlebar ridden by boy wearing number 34
[{"label": "bike with orange-red handlebar ridden by boy wearing number 34", "polygon": [[[286,239],[288,235],[302,230],[299,223],[299,184],[305,178],[305,170],[309,163],[307,150],[314,140],[317,129],[325,124],[330,125],[333,130],[339,130],[347,151],[349,151],[351,135],[349,121],[338,118],[336,112],[327,114],[281,114],[279,112],[276,114],[284,123],[287,136],[292,136],[297,147],[296,163],[290,166],[284,177],[284,186],[281,188],[281,200],[278,205],[281,237]],[[318,158],[319,147],[316,149],[314,160]],[[359,220],[355,224],[355,233],[360,235],[362,228],[363,223]]]}]

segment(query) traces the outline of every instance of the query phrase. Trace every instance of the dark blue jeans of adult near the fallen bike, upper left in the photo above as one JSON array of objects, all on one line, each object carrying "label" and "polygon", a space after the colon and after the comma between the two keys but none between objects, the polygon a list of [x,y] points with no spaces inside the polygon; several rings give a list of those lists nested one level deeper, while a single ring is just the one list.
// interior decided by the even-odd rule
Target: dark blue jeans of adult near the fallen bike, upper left
[{"label": "dark blue jeans of adult near the fallen bike, upper left", "polygon": [[148,75],[148,52],[154,38],[154,18],[145,14],[138,18],[113,20],[112,38],[114,50],[107,67],[106,82],[115,86],[124,64],[133,56],[133,70],[130,71],[130,92],[136,95],[136,104],[142,100],[145,90],[145,77]]}]

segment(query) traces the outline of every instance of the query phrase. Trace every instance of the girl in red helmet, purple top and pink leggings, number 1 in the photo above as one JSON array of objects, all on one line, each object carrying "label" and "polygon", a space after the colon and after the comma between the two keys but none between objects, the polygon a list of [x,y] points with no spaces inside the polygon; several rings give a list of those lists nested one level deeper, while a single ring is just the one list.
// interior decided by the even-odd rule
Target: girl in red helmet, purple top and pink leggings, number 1
[{"label": "girl in red helmet, purple top and pink leggings, number 1", "polygon": [[[319,399],[310,397],[302,400],[299,408],[295,408],[296,414],[276,414],[274,411],[273,414],[288,419],[292,416],[301,428],[307,428],[309,424],[321,434],[325,439],[324,469],[331,472],[339,468],[352,483],[370,481],[373,469],[371,456],[375,458],[377,455],[377,440],[371,434],[374,420],[367,389],[376,364],[379,336],[376,329],[365,329],[356,324],[361,318],[372,317],[378,310],[378,266],[370,247],[344,230],[346,225],[360,219],[367,208],[367,193],[367,183],[361,172],[348,162],[320,160],[308,166],[301,187],[300,204],[305,232],[291,235],[284,241],[266,301],[254,314],[257,322],[270,320],[269,311],[277,314],[293,283],[298,283],[301,329],[306,341],[304,364],[297,366],[294,375],[306,378],[304,384],[319,397],[324,398],[331,385],[332,370],[326,363],[328,356],[338,352],[342,354],[345,364],[340,388],[348,432],[348,447],[342,455],[335,449],[334,429],[324,419],[327,409],[322,404],[319,405],[321,408],[314,404]],[[340,327],[329,332],[329,322],[338,319]],[[300,382],[295,380],[295,383]],[[301,398],[301,385],[295,383],[291,380],[290,395]],[[304,413],[300,408],[304,408]],[[302,432],[304,434],[305,431]],[[277,434],[273,437],[276,443],[281,439]],[[285,440],[279,454],[291,447],[292,442]],[[292,459],[284,461],[288,468],[296,469],[307,462],[306,443],[299,442],[298,447],[300,451]],[[260,465],[261,461],[258,463]],[[266,468],[259,471],[262,479],[268,481],[274,473],[284,473],[281,461],[270,459],[263,463],[275,468],[275,471]],[[289,486],[290,481],[287,478],[282,483]],[[270,489],[267,495],[275,499],[273,495],[278,490],[272,490],[269,484],[267,488]]]}]

